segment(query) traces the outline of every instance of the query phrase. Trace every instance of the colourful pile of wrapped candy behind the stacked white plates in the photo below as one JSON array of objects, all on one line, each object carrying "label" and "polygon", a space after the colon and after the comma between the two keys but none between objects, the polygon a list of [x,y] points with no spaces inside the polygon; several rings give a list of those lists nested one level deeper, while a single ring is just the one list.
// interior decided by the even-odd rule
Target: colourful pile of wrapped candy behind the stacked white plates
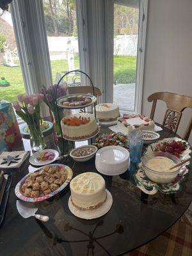
[{"label": "colourful pile of wrapped candy behind the stacked white plates", "polygon": [[129,148],[127,136],[122,134],[121,132],[111,132],[110,134],[102,134],[100,135],[93,145],[97,146],[97,148],[102,148],[106,146],[121,146],[124,148]]}]

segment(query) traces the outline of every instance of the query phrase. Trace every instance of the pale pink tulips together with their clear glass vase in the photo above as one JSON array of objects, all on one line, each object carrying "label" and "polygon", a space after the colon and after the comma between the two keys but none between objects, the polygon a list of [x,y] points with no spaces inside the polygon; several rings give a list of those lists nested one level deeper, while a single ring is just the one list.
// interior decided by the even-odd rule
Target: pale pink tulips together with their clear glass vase
[{"label": "pale pink tulips together with their clear glass vase", "polygon": [[42,118],[40,116],[40,104],[44,101],[44,94],[17,95],[18,101],[13,102],[17,115],[28,124],[30,131],[31,148],[35,151],[46,147],[44,136],[40,130]]}]

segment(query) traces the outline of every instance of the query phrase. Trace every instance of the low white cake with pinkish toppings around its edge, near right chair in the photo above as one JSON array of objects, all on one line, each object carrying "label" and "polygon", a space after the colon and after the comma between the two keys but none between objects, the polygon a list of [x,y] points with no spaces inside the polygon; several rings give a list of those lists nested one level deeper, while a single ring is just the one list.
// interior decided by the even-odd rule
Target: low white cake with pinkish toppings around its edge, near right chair
[{"label": "low white cake with pinkish toppings around its edge, near right chair", "polygon": [[154,131],[155,123],[147,116],[140,114],[126,115],[117,119],[117,125],[124,134],[129,134],[134,129],[142,131]]}]

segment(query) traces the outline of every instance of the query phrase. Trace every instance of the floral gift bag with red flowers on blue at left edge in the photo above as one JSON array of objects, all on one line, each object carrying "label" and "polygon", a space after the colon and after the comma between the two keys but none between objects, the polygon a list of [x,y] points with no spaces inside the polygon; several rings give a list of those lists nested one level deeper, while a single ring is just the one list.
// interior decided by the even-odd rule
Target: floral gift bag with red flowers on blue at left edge
[{"label": "floral gift bag with red flowers on blue at left edge", "polygon": [[21,139],[12,104],[0,102],[0,152],[12,150]]}]

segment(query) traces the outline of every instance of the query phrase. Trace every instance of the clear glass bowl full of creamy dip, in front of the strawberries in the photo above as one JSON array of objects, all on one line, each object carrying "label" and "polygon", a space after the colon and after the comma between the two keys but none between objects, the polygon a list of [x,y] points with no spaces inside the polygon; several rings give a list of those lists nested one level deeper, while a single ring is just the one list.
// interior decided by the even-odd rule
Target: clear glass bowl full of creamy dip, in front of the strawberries
[{"label": "clear glass bowl full of creamy dip, in front of the strawberries", "polygon": [[[153,161],[153,162],[152,162]],[[143,170],[148,179],[159,184],[172,182],[179,174],[180,166],[170,170],[170,167],[179,164],[180,159],[168,152],[155,152],[141,157]],[[152,167],[149,167],[150,166]],[[157,164],[157,165],[156,165]],[[170,164],[170,167],[168,167]]]}]

